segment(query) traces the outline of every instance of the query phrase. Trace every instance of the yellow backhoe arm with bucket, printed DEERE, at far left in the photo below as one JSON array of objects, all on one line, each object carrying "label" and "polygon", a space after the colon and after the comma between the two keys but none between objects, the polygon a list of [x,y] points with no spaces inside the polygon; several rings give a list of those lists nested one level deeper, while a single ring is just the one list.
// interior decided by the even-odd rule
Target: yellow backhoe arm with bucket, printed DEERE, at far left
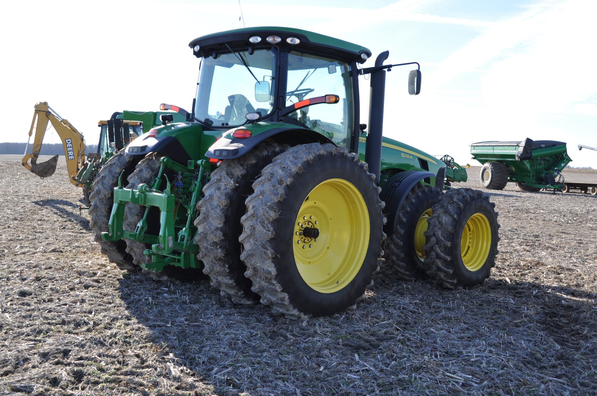
[{"label": "yellow backhoe arm with bucket, printed DEERE, at far left", "polygon": [[[85,163],[84,137],[70,122],[61,118],[54,112],[54,110],[48,106],[47,102],[39,102],[35,105],[35,112],[33,113],[33,120],[31,121],[31,127],[29,129],[29,140],[27,140],[27,146],[25,147],[25,153],[21,164],[42,178],[51,176],[56,171],[59,154],[56,154],[56,156],[46,162],[37,163],[48,122],[52,123],[54,129],[56,129],[56,133],[62,140],[70,182],[77,187],[82,187],[83,184],[74,180],[73,177],[77,175],[79,168]],[[29,141],[33,135],[34,128],[35,138],[33,139],[33,149],[31,153],[27,154]],[[30,164],[27,163],[29,159],[31,160]]]}]

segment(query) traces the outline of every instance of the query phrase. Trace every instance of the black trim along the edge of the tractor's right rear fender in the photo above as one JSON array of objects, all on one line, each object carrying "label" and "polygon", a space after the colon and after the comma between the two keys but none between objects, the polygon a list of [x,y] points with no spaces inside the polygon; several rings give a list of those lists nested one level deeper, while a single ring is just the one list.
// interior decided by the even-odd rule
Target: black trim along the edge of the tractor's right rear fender
[{"label": "black trim along the edge of the tractor's right rear fender", "polygon": [[[251,130],[251,125],[247,125],[247,129]],[[246,154],[248,151],[253,149],[253,147],[257,146],[257,144],[261,143],[267,138],[289,131],[295,132],[292,140],[298,142],[302,141],[302,143],[313,143],[318,141],[319,143],[334,144],[333,141],[331,141],[324,135],[312,131],[311,129],[301,128],[300,126],[282,126],[279,128],[269,129],[269,131],[261,132],[260,134],[257,134],[247,139],[218,139],[216,143],[212,144],[211,147],[207,150],[205,156],[208,158],[215,158],[220,160],[238,158]],[[293,143],[292,140],[283,139],[281,141],[283,143],[291,144]]]}]

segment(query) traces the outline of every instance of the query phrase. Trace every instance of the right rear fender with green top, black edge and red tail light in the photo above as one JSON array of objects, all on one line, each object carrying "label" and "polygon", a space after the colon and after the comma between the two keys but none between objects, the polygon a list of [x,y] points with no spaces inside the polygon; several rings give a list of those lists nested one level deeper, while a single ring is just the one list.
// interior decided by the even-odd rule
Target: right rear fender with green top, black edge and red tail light
[{"label": "right rear fender with green top, black edge and red tail light", "polygon": [[[261,124],[261,123],[260,123]],[[237,129],[248,129],[253,132],[250,138],[238,139],[232,136],[232,132]],[[257,132],[257,133],[256,133]],[[329,138],[322,134],[307,128],[301,128],[295,125],[284,125],[276,123],[267,128],[265,125],[258,125],[255,128],[248,125],[243,128],[235,128],[223,135],[216,141],[205,153],[206,157],[224,160],[234,159],[243,156],[251,151],[257,144],[266,140],[267,138],[275,137],[282,143],[297,144],[297,143],[334,143]]]}]

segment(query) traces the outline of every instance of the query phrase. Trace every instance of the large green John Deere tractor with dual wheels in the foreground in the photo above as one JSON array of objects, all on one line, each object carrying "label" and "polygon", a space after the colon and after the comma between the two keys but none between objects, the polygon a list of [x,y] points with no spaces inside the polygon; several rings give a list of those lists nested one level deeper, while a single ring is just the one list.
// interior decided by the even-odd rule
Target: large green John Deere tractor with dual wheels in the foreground
[{"label": "large green John Deere tractor with dual wheels in the foreground", "polygon": [[[189,47],[201,59],[192,111],[162,105],[186,122],[164,117],[103,168],[119,181],[107,227],[92,228],[110,258],[158,278],[202,268],[233,302],[291,318],[354,305],[381,255],[405,279],[488,276],[493,203],[470,189],[441,195],[444,163],[382,137],[386,70],[400,66],[383,64],[387,51],[359,69],[367,48],[286,27]],[[370,75],[368,128],[359,75]],[[417,68],[410,94],[420,82]]]}]

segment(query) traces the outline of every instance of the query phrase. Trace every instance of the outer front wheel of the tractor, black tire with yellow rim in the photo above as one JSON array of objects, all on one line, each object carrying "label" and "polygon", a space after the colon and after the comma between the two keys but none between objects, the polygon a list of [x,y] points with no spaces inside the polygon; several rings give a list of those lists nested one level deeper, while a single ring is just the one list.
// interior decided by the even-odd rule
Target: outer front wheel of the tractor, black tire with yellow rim
[{"label": "outer front wheel of the tractor, black tire with yellow rim", "polygon": [[496,265],[497,212],[487,194],[472,188],[448,191],[433,206],[425,233],[425,265],[447,289],[481,284]]}]

